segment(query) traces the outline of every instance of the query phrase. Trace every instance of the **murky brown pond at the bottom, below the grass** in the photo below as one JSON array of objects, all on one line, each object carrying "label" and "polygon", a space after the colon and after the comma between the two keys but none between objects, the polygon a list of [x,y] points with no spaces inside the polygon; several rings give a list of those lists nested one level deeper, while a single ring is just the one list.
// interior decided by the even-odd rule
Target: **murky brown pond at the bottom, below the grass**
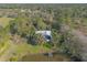
[{"label": "murky brown pond at the bottom, below the grass", "polygon": [[51,56],[45,54],[28,54],[20,62],[69,62],[70,57],[59,53],[53,53]]}]

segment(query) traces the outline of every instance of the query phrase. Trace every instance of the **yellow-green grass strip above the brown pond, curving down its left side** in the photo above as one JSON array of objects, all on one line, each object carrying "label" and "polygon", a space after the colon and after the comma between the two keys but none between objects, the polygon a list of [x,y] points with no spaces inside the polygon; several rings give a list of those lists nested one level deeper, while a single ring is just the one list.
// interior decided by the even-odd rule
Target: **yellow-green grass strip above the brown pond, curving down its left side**
[{"label": "yellow-green grass strip above the brown pond, curving down its left side", "polygon": [[14,55],[10,57],[9,61],[19,61],[22,56],[26,54],[46,53],[50,48],[43,45],[31,45],[31,44],[17,44],[14,47]]}]

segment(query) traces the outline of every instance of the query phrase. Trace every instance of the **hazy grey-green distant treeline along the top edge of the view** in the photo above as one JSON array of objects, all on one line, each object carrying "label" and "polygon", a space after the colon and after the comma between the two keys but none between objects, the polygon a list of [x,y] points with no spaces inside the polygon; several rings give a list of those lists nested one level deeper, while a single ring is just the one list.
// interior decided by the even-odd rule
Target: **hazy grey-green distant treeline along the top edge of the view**
[{"label": "hazy grey-green distant treeline along the top edge of the view", "polygon": [[12,8],[75,8],[75,7],[87,7],[86,3],[0,3],[0,8],[12,9]]}]

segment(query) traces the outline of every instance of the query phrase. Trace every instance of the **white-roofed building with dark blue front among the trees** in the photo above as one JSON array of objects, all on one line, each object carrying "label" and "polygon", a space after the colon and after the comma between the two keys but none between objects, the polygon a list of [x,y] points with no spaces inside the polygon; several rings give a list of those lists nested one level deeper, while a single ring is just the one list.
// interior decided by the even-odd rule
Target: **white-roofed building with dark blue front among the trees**
[{"label": "white-roofed building with dark blue front among the trees", "polygon": [[35,34],[42,34],[47,42],[52,40],[51,31],[36,31]]}]

